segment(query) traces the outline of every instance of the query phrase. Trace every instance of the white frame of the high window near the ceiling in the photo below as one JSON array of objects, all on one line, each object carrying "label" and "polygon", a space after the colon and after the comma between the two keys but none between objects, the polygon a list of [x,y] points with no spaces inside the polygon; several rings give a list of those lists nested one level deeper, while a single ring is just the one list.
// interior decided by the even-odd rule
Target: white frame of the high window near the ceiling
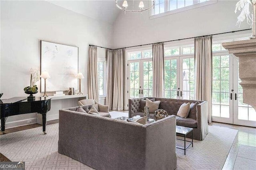
[{"label": "white frame of the high window near the ceiling", "polygon": [[151,8],[150,12],[149,12],[149,19],[159,18],[159,17],[162,17],[162,16],[171,15],[171,14],[175,14],[175,13],[178,13],[178,12],[184,12],[184,11],[191,10],[191,9],[194,9],[194,8],[199,8],[199,7],[202,7],[202,6],[216,4],[217,2],[218,2],[218,0],[208,0],[208,1],[205,1],[205,2],[200,2],[198,0],[197,4],[193,4],[193,5],[190,5],[190,6],[184,6],[182,8],[177,8],[176,10],[169,10],[169,0],[165,0],[165,3],[164,3],[165,4],[165,6],[164,6],[165,11],[163,13],[160,13],[160,14],[154,14],[154,9]]}]

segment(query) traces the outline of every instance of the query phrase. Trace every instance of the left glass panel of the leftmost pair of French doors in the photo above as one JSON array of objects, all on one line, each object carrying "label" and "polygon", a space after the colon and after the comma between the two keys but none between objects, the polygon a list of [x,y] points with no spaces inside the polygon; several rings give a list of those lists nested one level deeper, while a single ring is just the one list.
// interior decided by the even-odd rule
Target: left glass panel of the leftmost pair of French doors
[{"label": "left glass panel of the leftmost pair of French doors", "polygon": [[140,62],[129,63],[129,97],[140,97]]}]

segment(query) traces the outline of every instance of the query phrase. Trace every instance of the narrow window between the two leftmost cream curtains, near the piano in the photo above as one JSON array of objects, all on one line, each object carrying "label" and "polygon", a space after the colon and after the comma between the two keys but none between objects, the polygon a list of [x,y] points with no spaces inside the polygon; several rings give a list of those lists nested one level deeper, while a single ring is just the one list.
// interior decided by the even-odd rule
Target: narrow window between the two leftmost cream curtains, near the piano
[{"label": "narrow window between the two leftmost cream curtains, near the piano", "polygon": [[99,88],[99,96],[105,96],[105,62],[106,61],[98,61],[98,88]]}]

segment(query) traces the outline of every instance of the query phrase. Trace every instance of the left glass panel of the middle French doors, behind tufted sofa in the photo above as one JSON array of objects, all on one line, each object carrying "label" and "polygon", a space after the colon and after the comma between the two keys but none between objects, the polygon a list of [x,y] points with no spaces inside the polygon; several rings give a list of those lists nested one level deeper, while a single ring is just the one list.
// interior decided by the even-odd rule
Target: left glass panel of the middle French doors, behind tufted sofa
[{"label": "left glass panel of the middle French doors, behind tufted sofa", "polygon": [[164,97],[177,99],[178,91],[178,58],[164,60]]}]

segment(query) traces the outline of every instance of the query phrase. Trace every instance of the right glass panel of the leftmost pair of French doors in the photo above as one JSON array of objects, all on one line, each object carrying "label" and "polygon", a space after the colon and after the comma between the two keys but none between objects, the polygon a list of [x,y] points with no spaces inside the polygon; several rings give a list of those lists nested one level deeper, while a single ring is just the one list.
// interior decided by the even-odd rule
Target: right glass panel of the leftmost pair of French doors
[{"label": "right glass panel of the leftmost pair of French doors", "polygon": [[151,61],[142,61],[143,68],[143,80],[142,80],[142,91],[141,94],[144,97],[153,96],[153,65]]}]

